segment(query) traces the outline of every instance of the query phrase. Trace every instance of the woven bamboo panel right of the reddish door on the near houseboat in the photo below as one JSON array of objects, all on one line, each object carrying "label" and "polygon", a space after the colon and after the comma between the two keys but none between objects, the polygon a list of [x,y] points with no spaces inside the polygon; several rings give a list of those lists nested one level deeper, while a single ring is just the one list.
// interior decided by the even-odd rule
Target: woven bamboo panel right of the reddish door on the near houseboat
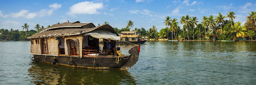
[{"label": "woven bamboo panel right of the reddish door on the near houseboat", "polygon": [[58,56],[58,40],[55,40],[55,38],[56,37],[48,37],[47,38],[46,53],[48,53],[49,55]]}]

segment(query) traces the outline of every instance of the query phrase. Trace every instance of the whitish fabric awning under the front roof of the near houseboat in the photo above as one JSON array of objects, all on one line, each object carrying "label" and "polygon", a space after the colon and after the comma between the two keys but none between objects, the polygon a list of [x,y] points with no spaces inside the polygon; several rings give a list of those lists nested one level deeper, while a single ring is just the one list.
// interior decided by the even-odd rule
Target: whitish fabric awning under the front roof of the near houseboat
[{"label": "whitish fabric awning under the front roof of the near houseboat", "polygon": [[90,33],[86,33],[85,35],[91,35],[92,37],[97,39],[108,39],[115,41],[121,40],[121,38],[117,36],[115,33],[106,30],[95,30]]}]

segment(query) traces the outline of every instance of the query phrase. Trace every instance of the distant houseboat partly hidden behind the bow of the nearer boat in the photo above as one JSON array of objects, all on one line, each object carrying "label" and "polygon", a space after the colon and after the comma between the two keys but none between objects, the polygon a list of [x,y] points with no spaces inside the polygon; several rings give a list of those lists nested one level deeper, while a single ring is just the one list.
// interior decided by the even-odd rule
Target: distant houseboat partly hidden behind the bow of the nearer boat
[{"label": "distant houseboat partly hidden behind the bow of the nearer boat", "polygon": [[118,41],[117,43],[143,44],[147,42],[147,39],[141,38],[141,35],[137,31],[122,31],[121,34],[118,35],[122,38],[122,40]]}]

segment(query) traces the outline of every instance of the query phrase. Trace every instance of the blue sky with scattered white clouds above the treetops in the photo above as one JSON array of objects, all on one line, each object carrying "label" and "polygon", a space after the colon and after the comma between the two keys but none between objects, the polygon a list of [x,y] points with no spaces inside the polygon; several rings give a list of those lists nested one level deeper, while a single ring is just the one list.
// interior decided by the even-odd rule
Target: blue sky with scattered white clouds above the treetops
[{"label": "blue sky with scattered white clouds above the treetops", "polygon": [[[94,25],[107,21],[119,29],[134,22],[134,28],[164,28],[165,16],[171,19],[190,15],[227,15],[235,12],[235,21],[244,24],[246,16],[256,11],[256,0],[3,0],[0,3],[0,28],[19,29],[28,23],[29,30],[43,26],[80,21]],[[201,20],[199,20],[201,22]],[[180,25],[181,26],[181,25]]]}]

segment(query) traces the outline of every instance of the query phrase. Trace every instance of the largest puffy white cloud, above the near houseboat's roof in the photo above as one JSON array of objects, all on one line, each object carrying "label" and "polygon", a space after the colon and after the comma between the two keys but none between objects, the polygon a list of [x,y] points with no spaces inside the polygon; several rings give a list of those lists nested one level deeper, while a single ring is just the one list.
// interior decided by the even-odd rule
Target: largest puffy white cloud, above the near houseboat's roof
[{"label": "largest puffy white cloud, above the near houseboat's roof", "polygon": [[69,8],[68,15],[75,15],[75,14],[98,14],[98,9],[103,8],[102,3],[93,3],[93,2],[80,2],[77,4],[72,5]]}]

